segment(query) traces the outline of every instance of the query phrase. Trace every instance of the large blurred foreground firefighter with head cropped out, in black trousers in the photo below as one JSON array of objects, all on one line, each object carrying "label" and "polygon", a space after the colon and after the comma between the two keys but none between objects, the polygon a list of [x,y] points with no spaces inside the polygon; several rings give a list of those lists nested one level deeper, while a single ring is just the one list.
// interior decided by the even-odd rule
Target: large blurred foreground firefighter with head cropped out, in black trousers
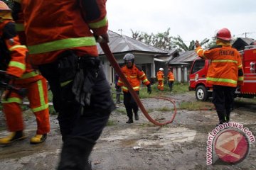
[{"label": "large blurred foreground firefighter with head cropped out, in black trousers", "polygon": [[115,108],[95,39],[109,41],[106,0],[15,1],[29,59],[55,98],[63,139],[58,169],[91,169],[90,153]]}]

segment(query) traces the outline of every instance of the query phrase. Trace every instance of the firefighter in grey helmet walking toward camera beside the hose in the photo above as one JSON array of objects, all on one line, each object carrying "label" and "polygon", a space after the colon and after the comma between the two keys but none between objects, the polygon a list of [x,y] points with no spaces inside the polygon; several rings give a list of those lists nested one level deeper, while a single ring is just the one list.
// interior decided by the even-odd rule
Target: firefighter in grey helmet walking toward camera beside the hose
[{"label": "firefighter in grey helmet walking toward camera beside the hose", "polygon": [[[124,76],[129,81],[129,84],[132,86],[132,88],[134,89],[134,91],[136,91],[138,95],[140,81],[142,81],[142,83],[147,86],[147,92],[151,94],[150,81],[146,78],[146,74],[144,74],[142,69],[140,69],[134,64],[134,55],[132,55],[131,53],[124,55],[124,66],[121,69],[124,73]],[[122,91],[124,93],[124,106],[127,111],[127,116],[129,118],[126,123],[133,123],[132,111],[134,112],[135,120],[139,120],[139,107],[136,101],[134,101],[132,95],[129,93],[128,88],[127,86],[125,86],[122,79],[119,78],[117,86],[122,87]]]}]

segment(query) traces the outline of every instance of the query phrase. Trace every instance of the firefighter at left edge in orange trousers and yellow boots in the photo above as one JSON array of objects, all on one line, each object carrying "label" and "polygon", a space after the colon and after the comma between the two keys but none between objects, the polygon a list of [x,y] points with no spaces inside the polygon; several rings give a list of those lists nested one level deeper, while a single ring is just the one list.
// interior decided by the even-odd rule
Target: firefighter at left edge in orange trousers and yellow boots
[{"label": "firefighter at left edge in orange trousers and yellow boots", "polygon": [[[26,61],[27,48],[25,45],[21,45],[11,16],[11,9],[3,1],[0,1],[0,18],[0,55],[6,60],[4,64],[7,67],[6,74],[9,75],[6,83],[28,89],[29,107],[36,115],[37,123],[36,135],[31,138],[30,142],[38,144],[46,140],[47,133],[50,131],[46,79],[34,72]],[[4,61],[1,60],[1,62]],[[0,139],[2,145],[26,138],[23,132],[24,125],[20,106],[22,99],[23,97],[16,91],[5,91],[1,98],[7,126],[11,132],[9,136]]]}]

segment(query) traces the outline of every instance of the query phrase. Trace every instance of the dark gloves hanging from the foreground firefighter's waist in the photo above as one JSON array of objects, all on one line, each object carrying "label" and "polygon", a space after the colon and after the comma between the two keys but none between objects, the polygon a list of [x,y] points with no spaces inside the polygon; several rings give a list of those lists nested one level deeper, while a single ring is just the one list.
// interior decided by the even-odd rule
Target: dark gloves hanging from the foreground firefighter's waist
[{"label": "dark gloves hanging from the foreground firefighter's waist", "polygon": [[79,71],[75,75],[72,91],[80,105],[90,106],[93,86],[100,71],[100,60],[97,57],[81,57],[78,63]]}]

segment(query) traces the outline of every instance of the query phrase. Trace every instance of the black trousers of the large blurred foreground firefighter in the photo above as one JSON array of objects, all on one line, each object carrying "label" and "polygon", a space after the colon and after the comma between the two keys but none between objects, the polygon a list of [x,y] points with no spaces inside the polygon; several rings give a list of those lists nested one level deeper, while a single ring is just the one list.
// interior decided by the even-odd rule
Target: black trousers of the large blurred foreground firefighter
[{"label": "black trousers of the large blurred foreground firefighter", "polygon": [[105,78],[105,73],[100,69],[91,95],[90,106],[85,106],[81,113],[80,104],[75,101],[72,92],[73,81],[65,86],[60,85],[60,72],[58,61],[50,64],[42,64],[39,70],[46,77],[53,92],[53,105],[58,111],[60,132],[65,139],[83,137],[87,141],[95,142],[105,128],[111,111],[114,110],[114,102],[110,94],[110,84]]}]

